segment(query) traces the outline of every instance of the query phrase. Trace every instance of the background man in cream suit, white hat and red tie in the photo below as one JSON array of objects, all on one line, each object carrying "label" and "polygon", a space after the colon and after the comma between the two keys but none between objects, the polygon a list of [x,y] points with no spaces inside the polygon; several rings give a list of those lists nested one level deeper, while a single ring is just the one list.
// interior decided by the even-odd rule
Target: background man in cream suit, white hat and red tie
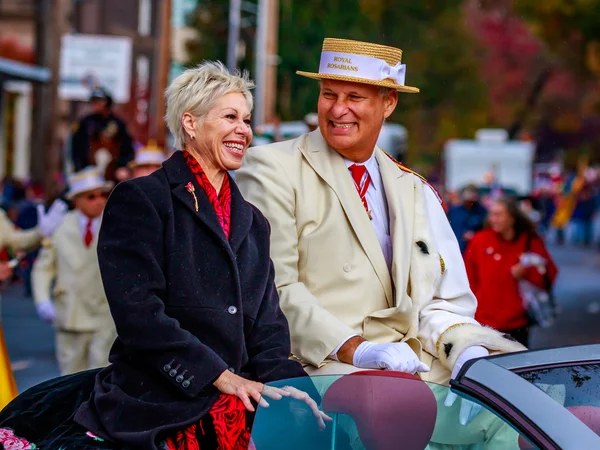
[{"label": "background man in cream suit, white hat and red tie", "polygon": [[108,364],[116,337],[96,254],[112,185],[94,167],[71,176],[67,197],[75,209],[44,241],[33,266],[33,297],[39,316],[56,328],[62,375]]}]

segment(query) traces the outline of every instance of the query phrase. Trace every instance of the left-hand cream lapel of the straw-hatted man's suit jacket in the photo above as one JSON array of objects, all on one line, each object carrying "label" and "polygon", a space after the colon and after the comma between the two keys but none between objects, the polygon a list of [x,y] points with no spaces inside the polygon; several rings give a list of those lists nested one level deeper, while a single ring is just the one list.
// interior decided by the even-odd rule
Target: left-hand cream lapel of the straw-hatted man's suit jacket
[{"label": "left-hand cream lapel of the straw-hatted man's suit jacket", "polygon": [[390,272],[375,230],[356,192],[356,187],[352,182],[343,157],[327,146],[319,130],[308,134],[300,144],[300,151],[340,201],[350,226],[383,285],[386,300],[391,307],[393,305],[393,292]]}]

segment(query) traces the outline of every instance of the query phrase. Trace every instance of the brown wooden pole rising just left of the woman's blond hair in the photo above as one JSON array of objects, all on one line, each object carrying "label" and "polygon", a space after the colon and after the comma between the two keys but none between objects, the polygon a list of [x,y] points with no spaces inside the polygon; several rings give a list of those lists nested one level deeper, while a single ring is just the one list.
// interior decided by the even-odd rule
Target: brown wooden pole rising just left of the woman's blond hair
[{"label": "brown wooden pole rising just left of the woman's blond hair", "polygon": [[165,89],[169,84],[169,68],[171,66],[171,2],[160,2],[160,49],[158,61],[158,85],[156,89],[156,115],[151,117],[150,136],[154,136],[160,146],[166,146],[167,127],[165,124]]}]

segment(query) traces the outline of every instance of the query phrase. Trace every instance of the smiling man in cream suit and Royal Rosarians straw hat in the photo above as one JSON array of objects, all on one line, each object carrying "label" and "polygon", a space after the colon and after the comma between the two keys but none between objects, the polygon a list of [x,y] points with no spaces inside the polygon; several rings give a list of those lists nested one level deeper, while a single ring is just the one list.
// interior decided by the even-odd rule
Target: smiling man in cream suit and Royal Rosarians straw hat
[{"label": "smiling man in cream suit and Royal Rosarians straw hat", "polygon": [[475,321],[438,194],[376,146],[398,92],[419,92],[401,57],[325,39],[319,72],[297,72],[320,82],[319,129],[250,148],[236,180],[271,223],[292,352],[308,373],[387,369],[447,384],[467,360],[524,347]]}]

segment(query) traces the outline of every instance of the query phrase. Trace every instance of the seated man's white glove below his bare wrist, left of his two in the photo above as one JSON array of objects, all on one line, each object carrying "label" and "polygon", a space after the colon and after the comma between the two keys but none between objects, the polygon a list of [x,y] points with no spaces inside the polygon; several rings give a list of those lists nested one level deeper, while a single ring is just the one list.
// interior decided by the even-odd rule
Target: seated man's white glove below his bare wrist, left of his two
[{"label": "seated man's white glove below his bare wrist, left of his two", "polygon": [[419,361],[415,352],[406,342],[392,344],[363,342],[356,348],[352,364],[361,369],[397,370],[410,374],[431,370],[426,364]]}]

